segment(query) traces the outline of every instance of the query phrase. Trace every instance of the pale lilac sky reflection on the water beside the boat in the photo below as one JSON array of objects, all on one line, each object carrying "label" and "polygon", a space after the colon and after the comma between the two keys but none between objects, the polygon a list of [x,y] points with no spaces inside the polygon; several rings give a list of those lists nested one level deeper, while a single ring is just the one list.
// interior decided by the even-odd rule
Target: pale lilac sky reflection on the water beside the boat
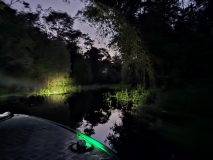
[{"label": "pale lilac sky reflection on the water beside the boat", "polygon": [[[108,143],[105,143],[106,137],[109,135],[109,133],[113,134],[113,131],[110,128],[113,127],[115,123],[122,123],[120,118],[121,115],[121,111],[117,109],[111,110],[111,116],[109,117],[109,120],[104,124],[98,124],[97,126],[93,127],[93,129],[95,130],[95,134],[91,135],[91,137],[105,144],[107,147],[110,147]],[[91,124],[83,119],[82,125],[77,128],[77,130],[84,133],[84,129],[88,128],[88,126],[91,127]]]}]

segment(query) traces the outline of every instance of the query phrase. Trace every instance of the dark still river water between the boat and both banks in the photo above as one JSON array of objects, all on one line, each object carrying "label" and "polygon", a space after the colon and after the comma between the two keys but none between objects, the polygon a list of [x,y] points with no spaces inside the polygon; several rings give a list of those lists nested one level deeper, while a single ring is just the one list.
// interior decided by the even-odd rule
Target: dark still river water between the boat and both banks
[{"label": "dark still river water between the boat and both banks", "polygon": [[[121,159],[170,159],[173,148],[137,123],[127,108],[111,106],[98,90],[73,95],[49,97],[7,97],[0,102],[0,112],[10,111],[38,116],[77,129],[114,150]],[[160,154],[159,154],[160,153]]]}]

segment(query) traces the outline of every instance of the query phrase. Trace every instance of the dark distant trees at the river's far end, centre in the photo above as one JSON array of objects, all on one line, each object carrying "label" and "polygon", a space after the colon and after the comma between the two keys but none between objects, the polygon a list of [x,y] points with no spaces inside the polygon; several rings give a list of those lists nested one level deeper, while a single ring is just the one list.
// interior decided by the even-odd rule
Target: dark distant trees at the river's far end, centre
[{"label": "dark distant trees at the river's far end, centre", "polygon": [[91,48],[80,54],[72,51],[72,72],[71,77],[75,78],[78,84],[112,84],[120,83],[121,74],[118,66],[114,65],[108,51],[104,48]]}]

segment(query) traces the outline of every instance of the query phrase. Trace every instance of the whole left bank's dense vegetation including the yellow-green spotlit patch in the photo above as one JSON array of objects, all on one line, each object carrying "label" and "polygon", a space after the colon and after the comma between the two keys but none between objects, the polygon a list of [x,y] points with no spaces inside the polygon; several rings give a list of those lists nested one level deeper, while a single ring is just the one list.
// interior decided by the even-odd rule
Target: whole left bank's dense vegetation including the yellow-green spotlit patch
[{"label": "whole left bank's dense vegetation including the yellow-green spotlit patch", "polygon": [[119,83],[118,58],[74,30],[74,20],[41,5],[18,12],[1,1],[1,92],[66,93],[76,85]]}]

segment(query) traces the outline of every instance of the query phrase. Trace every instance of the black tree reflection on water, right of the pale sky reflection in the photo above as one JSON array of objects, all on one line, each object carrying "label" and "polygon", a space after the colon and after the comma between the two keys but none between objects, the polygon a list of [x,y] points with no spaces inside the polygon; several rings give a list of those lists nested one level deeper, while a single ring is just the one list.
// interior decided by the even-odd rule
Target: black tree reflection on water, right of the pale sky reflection
[{"label": "black tree reflection on water, right of the pale sky reflection", "polygon": [[115,123],[107,136],[110,148],[116,150],[121,159],[171,160],[172,145],[126,108],[121,112],[122,123]]}]

